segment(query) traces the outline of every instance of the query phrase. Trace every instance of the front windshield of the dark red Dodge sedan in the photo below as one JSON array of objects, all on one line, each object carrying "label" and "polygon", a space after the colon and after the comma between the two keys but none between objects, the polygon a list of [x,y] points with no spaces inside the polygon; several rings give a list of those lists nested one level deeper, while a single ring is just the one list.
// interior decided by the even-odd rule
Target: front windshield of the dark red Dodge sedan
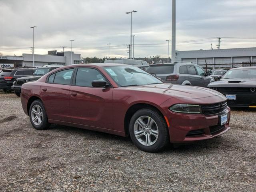
[{"label": "front windshield of the dark red Dodge sedan", "polygon": [[136,86],[148,84],[162,84],[156,77],[148,74],[144,70],[133,66],[109,66],[104,70],[118,84],[118,86]]}]

